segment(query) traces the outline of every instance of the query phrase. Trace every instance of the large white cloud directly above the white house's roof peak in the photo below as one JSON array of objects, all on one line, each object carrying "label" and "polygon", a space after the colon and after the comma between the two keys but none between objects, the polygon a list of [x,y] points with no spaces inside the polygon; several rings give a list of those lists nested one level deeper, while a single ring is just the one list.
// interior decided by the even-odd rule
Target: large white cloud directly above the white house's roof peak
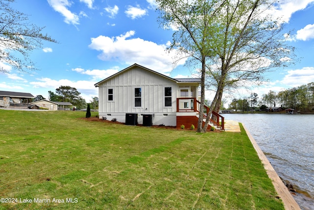
[{"label": "large white cloud directly above the white house's roof peak", "polygon": [[[118,60],[126,64],[138,63],[160,73],[169,72],[173,69],[173,58],[177,51],[170,53],[165,51],[166,45],[158,45],[141,38],[131,38],[135,31],[128,31],[124,35],[108,37],[100,35],[91,38],[89,48],[101,51],[98,56],[101,60]],[[184,64],[186,59],[180,60],[177,65]]]}]

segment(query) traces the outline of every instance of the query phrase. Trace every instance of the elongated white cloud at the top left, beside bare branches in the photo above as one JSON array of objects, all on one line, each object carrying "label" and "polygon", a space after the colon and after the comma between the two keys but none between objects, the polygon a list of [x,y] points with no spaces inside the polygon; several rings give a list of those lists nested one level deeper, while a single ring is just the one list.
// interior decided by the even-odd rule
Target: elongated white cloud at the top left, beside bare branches
[{"label": "elongated white cloud at the top left, beside bare branches", "polygon": [[64,22],[67,24],[78,25],[79,17],[77,14],[72,13],[67,7],[71,6],[71,2],[68,0],[48,0],[48,3],[52,8],[61,13],[64,16]]}]

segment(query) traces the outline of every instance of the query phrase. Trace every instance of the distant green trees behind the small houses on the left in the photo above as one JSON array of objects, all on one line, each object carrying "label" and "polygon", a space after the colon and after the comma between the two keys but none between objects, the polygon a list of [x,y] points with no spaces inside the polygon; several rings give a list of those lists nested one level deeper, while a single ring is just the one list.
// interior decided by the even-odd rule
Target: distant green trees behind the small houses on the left
[{"label": "distant green trees behind the small houses on the left", "polygon": [[[39,101],[46,99],[42,95],[37,95],[33,98],[33,101]],[[60,86],[55,89],[55,92],[48,91],[48,100],[54,102],[70,102],[77,109],[86,109],[87,103],[84,98],[80,96],[80,92],[70,86]],[[92,97],[89,101],[91,109],[98,109],[98,97]]]}]

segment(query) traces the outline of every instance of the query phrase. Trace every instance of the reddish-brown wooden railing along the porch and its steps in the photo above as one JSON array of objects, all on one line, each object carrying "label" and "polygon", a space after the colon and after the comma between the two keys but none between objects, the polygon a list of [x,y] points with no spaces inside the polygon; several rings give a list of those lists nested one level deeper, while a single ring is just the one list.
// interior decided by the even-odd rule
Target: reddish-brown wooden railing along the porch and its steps
[{"label": "reddish-brown wooden railing along the porch and its steps", "polygon": [[[200,106],[201,102],[196,100],[196,98],[177,98],[177,112],[200,112]],[[203,118],[206,118],[209,113],[209,107],[204,105],[204,109]],[[225,129],[224,119],[224,117],[212,111],[210,121],[214,125],[220,126],[222,130]]]}]

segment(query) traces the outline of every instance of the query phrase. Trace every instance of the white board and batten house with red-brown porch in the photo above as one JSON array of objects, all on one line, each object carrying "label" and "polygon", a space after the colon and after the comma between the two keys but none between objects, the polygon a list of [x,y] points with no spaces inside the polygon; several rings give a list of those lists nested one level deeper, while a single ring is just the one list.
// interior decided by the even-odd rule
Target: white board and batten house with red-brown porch
[{"label": "white board and batten house with red-brown porch", "polygon": [[[197,126],[199,78],[174,79],[133,64],[98,82],[99,118],[139,124]],[[136,124],[136,123],[134,123]]]}]

